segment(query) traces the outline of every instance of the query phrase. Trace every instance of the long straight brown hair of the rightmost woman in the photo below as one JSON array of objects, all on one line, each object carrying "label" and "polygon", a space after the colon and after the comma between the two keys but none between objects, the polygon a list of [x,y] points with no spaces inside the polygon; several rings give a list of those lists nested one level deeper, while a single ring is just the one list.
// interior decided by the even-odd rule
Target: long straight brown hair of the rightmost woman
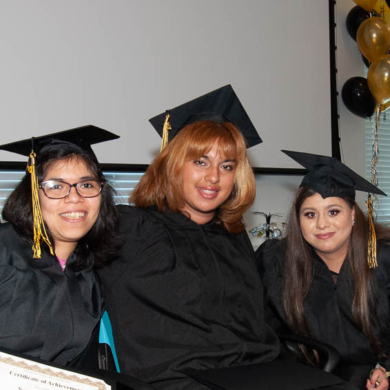
[{"label": "long straight brown hair of the rightmost woman", "polygon": [[[314,264],[312,247],[302,236],[299,214],[302,203],[314,194],[316,192],[305,187],[298,190],[287,218],[287,236],[285,238],[283,306],[291,330],[305,336],[311,336],[305,316],[304,302],[313,282]],[[378,349],[379,341],[373,336],[371,330],[372,325],[376,323],[376,288],[367,263],[368,222],[355,201],[349,198],[342,199],[351,209],[355,209],[355,224],[351,231],[346,258],[355,285],[351,312],[356,325],[365,333],[371,345]],[[376,224],[376,234],[378,240],[390,238],[389,229],[378,224]]]}]

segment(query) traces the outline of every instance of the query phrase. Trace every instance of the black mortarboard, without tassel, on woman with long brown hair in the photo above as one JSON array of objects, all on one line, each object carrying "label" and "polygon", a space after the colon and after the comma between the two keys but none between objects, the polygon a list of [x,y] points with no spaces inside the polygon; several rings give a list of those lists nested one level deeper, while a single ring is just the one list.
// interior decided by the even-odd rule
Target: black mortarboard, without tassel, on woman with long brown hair
[{"label": "black mortarboard, without tassel, on woman with long brown hair", "polygon": [[338,196],[355,199],[356,190],[387,196],[378,187],[349,169],[347,165],[340,163],[337,158],[291,150],[282,150],[282,152],[308,170],[300,187],[313,189],[322,198]]}]

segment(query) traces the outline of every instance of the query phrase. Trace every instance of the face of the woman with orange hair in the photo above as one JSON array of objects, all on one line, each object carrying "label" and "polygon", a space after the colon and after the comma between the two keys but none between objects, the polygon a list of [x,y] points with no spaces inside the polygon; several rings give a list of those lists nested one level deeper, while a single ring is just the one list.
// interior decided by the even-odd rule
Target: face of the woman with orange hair
[{"label": "face of the woman with orange hair", "polygon": [[232,193],[236,176],[236,161],[220,154],[218,141],[201,158],[183,165],[183,212],[200,225],[209,222],[216,209]]}]

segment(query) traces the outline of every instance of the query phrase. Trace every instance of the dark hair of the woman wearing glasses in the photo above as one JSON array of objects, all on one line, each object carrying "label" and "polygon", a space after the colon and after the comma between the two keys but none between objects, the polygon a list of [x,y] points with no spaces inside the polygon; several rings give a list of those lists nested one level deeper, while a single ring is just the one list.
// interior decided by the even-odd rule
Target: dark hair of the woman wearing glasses
[{"label": "dark hair of the woman wearing glasses", "polygon": [[[101,167],[96,156],[88,150],[72,143],[63,143],[53,146],[41,152],[37,156],[37,179],[41,183],[52,165],[60,161],[71,161],[80,159],[85,163],[92,174],[100,181],[105,181]],[[105,183],[101,191],[101,206],[99,216],[90,231],[79,240],[74,254],[76,256],[76,267],[88,269],[99,267],[112,259],[120,245],[119,236],[116,233],[118,214],[114,203],[114,189],[109,183]],[[25,174],[21,182],[8,196],[4,204],[2,216],[12,223],[18,234],[29,243],[32,243],[33,218],[32,218],[32,195],[30,174]],[[50,229],[46,225],[50,242],[54,240]],[[43,245],[43,250],[48,252],[48,246]],[[32,252],[31,252],[32,253]]]}]

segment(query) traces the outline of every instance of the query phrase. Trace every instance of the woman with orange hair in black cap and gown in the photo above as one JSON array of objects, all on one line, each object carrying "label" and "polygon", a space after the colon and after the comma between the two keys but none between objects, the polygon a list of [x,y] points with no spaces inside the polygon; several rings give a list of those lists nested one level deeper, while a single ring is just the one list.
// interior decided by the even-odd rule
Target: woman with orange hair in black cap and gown
[{"label": "woman with orange hair in black cap and gown", "polygon": [[156,389],[206,389],[189,371],[279,354],[243,223],[255,196],[246,147],[261,140],[230,85],[170,114],[180,132],[134,189],[135,207],[119,207],[123,247],[99,276],[121,371]]}]

